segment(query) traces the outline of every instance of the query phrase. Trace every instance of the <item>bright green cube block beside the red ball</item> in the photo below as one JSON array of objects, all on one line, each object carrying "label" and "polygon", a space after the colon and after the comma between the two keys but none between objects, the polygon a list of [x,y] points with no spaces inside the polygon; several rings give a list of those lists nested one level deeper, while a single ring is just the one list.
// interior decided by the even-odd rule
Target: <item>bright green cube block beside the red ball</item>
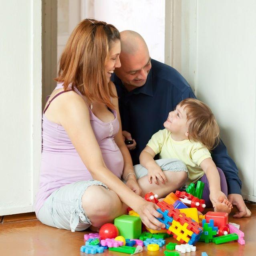
[{"label": "bright green cube block beside the red ball", "polygon": [[141,219],[137,216],[121,215],[115,218],[114,224],[119,230],[119,236],[126,239],[138,239],[141,235]]}]

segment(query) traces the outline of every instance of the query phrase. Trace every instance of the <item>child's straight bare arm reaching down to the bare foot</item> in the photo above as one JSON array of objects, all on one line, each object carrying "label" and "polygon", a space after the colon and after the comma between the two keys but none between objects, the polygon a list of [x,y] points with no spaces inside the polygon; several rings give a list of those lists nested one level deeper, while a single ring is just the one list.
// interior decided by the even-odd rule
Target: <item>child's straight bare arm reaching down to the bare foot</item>
[{"label": "child's straight bare arm reaching down to the bare foot", "polygon": [[[200,167],[205,172],[206,177],[209,181],[210,200],[212,202],[212,205],[214,206],[217,202],[220,202],[220,200],[218,200],[220,197],[223,197],[228,201],[226,195],[221,191],[220,175],[214,161],[212,161],[211,158],[206,158],[202,161]],[[227,205],[232,207],[231,203]]]}]

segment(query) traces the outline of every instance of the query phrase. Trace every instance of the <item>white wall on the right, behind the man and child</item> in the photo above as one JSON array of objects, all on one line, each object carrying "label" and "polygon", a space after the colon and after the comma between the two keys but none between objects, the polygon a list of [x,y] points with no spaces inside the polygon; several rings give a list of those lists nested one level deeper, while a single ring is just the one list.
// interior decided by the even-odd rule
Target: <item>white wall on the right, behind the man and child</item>
[{"label": "white wall on the right, behind the man and child", "polygon": [[256,202],[256,1],[182,2],[181,73],[212,108]]}]

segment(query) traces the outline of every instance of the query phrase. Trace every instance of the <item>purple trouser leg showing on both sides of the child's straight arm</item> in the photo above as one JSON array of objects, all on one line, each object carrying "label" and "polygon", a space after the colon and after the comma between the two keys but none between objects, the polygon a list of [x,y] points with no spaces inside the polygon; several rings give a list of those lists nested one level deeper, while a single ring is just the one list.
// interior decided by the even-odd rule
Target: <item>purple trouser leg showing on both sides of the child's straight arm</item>
[{"label": "purple trouser leg showing on both sides of the child's straight arm", "polygon": [[[222,171],[222,169],[220,169],[219,167],[217,167],[218,172],[220,174],[220,188],[221,191],[228,196],[228,185],[227,185],[227,181],[226,181],[226,177]],[[212,202],[210,201],[210,189],[209,189],[209,181],[206,177],[206,174],[204,174],[204,176],[200,179],[202,182],[204,182],[204,191],[203,191],[203,196],[202,199],[205,200],[206,202],[206,207],[212,207]]]}]

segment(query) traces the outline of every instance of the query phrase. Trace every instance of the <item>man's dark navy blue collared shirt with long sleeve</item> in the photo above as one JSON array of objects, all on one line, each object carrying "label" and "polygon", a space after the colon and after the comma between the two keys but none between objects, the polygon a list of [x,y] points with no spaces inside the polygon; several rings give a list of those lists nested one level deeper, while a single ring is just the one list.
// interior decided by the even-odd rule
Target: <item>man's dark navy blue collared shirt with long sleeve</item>
[{"label": "man's dark navy blue collared shirt with long sleeve", "polygon": [[[163,123],[168,113],[183,99],[196,98],[177,70],[153,59],[151,65],[145,85],[130,92],[115,74],[112,76],[119,97],[122,129],[131,133],[137,143],[136,149],[130,151],[134,165],[139,163],[139,155],[151,136],[164,129]],[[212,158],[224,171],[228,194],[241,194],[242,183],[238,177],[238,169],[223,142],[214,149]]]}]

